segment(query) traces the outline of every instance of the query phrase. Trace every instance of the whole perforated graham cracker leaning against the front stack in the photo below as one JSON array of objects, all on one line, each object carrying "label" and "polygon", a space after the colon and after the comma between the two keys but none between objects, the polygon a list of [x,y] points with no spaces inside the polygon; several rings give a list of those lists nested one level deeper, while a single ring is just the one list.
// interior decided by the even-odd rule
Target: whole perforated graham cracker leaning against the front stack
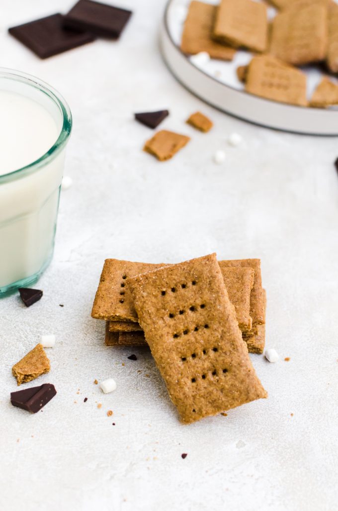
[{"label": "whole perforated graham cracker leaning against the front stack", "polygon": [[135,309],[182,422],[267,397],[216,255],[130,279]]}]

